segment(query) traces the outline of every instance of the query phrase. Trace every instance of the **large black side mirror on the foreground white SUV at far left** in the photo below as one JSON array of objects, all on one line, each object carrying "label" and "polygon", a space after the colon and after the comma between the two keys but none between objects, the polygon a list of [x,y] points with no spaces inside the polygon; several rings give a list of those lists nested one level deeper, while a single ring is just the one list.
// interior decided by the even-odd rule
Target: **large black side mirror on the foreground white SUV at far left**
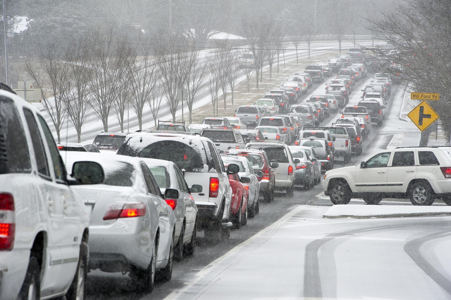
[{"label": "large black side mirror on the foreground white SUV at far left", "polygon": [[69,185],[99,184],[105,179],[105,173],[100,164],[93,161],[78,161],[72,167],[73,178],[68,180]]}]

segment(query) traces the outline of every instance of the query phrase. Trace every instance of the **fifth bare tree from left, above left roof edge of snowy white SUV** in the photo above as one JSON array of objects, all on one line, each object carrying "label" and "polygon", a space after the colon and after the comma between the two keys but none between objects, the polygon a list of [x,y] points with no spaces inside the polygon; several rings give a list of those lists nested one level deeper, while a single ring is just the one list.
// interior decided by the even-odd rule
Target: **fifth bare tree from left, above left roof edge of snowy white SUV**
[{"label": "fifth bare tree from left, above left roof edge of snowy white SUV", "polygon": [[143,130],[143,109],[155,88],[158,68],[152,55],[152,45],[138,43],[133,58],[135,59],[130,62],[128,72],[132,94],[130,105],[138,117],[139,130]]}]

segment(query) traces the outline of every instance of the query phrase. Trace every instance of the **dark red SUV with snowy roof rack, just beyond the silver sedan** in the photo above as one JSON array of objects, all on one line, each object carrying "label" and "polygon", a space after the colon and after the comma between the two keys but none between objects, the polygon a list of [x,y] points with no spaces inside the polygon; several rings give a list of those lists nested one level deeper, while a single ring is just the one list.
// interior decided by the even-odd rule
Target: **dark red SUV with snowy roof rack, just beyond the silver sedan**
[{"label": "dark red SUV with snowy roof rack, just beyond the silver sedan", "polygon": [[271,166],[276,163],[270,163],[264,150],[250,147],[234,147],[226,150],[224,155],[244,156],[249,160],[249,163],[252,165],[255,172],[263,172],[263,176],[257,176],[258,181],[260,182],[260,195],[263,195],[267,202],[271,202],[274,199],[276,176],[274,175]]}]

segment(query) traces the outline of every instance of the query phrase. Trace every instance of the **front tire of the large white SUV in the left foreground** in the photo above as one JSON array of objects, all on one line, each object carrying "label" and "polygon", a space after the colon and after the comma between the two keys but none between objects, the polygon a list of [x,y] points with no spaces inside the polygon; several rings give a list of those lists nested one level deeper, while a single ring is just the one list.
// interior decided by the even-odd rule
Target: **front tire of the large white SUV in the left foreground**
[{"label": "front tire of the large white SUV in the left foreground", "polygon": [[88,255],[89,248],[86,242],[83,241],[80,245],[77,273],[75,273],[74,280],[67,291],[66,300],[83,300],[86,295]]}]

